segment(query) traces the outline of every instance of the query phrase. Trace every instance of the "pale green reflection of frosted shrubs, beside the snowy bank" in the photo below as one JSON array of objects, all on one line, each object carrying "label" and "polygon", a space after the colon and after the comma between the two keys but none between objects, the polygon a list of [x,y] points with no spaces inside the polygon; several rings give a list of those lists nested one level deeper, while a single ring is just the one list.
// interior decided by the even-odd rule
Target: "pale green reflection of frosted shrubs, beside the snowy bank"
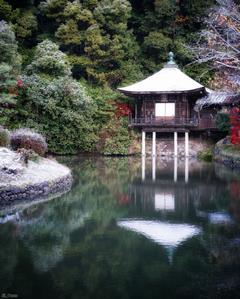
[{"label": "pale green reflection of frosted shrubs, beside the snowy bank", "polygon": [[113,165],[104,162],[82,161],[74,169],[76,179],[70,193],[22,213],[19,233],[38,270],[46,271],[63,258],[71,234],[86,219],[108,225],[121,216],[114,195],[120,194],[121,186],[127,183],[129,177],[124,175],[124,169],[128,162],[124,159],[113,161]]}]

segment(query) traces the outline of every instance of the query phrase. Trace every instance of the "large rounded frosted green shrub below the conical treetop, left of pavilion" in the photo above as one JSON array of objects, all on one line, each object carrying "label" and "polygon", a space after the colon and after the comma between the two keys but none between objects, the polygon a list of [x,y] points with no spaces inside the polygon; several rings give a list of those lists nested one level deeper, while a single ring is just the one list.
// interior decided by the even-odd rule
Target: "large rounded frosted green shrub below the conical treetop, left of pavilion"
[{"label": "large rounded frosted green shrub below the conical treetop, left of pavilion", "polygon": [[[19,120],[46,136],[49,151],[76,154],[91,151],[96,142],[95,105],[80,83],[71,77],[48,80],[23,77],[26,96],[18,101]],[[21,115],[25,107],[28,116]]]}]

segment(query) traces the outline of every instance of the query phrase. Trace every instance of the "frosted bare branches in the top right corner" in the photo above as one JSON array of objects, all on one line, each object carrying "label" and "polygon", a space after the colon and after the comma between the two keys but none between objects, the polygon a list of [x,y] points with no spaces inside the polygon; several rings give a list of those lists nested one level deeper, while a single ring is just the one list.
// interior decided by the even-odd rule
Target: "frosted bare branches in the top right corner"
[{"label": "frosted bare branches in the top right corner", "polygon": [[221,71],[228,83],[231,80],[236,83],[239,80],[235,78],[240,77],[239,6],[233,0],[217,0],[217,3],[209,11],[206,28],[199,33],[198,40],[186,46],[195,57],[188,65],[207,63],[209,68]]}]

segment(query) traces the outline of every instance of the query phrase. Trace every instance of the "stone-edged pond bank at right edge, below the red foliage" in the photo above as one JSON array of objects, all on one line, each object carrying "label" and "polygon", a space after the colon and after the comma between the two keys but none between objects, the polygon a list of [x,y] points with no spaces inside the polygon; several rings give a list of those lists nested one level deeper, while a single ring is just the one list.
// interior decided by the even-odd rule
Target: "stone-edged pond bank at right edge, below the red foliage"
[{"label": "stone-edged pond bank at right edge, below the red foliage", "polygon": [[240,147],[230,144],[227,139],[222,139],[214,148],[214,160],[228,167],[240,169]]}]

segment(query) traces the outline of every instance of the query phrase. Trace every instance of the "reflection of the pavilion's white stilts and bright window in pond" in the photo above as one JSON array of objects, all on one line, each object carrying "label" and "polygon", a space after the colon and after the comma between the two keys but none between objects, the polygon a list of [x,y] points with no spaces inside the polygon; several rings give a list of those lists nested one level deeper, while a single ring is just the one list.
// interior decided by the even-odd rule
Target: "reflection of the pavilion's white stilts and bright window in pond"
[{"label": "reflection of the pavilion's white stilts and bright window in pond", "polygon": [[130,186],[130,197],[134,197],[135,204],[140,201],[145,209],[174,212],[179,200],[181,206],[188,202],[188,158],[161,160],[143,156],[141,170],[141,181],[136,177]]}]

